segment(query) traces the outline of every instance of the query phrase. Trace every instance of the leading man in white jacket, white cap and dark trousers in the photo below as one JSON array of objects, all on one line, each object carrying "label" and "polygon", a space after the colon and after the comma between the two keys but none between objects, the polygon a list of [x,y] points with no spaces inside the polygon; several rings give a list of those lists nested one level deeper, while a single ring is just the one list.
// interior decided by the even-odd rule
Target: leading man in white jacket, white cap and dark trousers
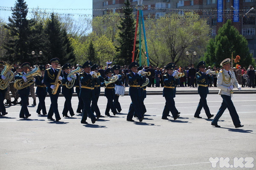
[{"label": "leading man in white jacket, white cap and dark trousers", "polygon": [[[227,65],[226,65],[227,64]],[[217,125],[218,120],[220,119],[220,117],[222,116],[222,114],[224,113],[224,111],[226,110],[226,108],[228,108],[229,114],[231,115],[232,121],[235,125],[235,127],[243,127],[243,125],[241,125],[240,120],[239,120],[239,116],[236,112],[235,106],[231,100],[232,97],[232,85],[234,85],[236,88],[238,88],[238,90],[241,90],[241,87],[239,86],[238,82],[236,81],[236,77],[234,74],[234,71],[227,71],[225,70],[225,67],[229,66],[230,68],[230,59],[225,59],[224,61],[221,62],[221,66],[224,66],[224,69],[220,71],[220,73],[218,73],[218,77],[217,77],[217,88],[220,89],[219,91],[219,95],[221,95],[223,101],[221,103],[221,107],[219,109],[219,111],[217,112],[217,115],[215,116],[215,118],[213,119],[213,121],[211,122],[211,125],[215,126],[215,127],[220,127],[219,125]]]}]

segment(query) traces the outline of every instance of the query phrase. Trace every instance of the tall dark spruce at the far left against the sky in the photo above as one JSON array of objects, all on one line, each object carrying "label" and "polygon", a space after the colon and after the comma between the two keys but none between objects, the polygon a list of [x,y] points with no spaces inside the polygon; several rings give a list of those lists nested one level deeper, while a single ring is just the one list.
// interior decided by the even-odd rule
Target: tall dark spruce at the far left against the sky
[{"label": "tall dark spruce at the far left against the sky", "polygon": [[24,0],[17,0],[12,15],[8,18],[6,28],[9,31],[8,41],[4,45],[6,56],[4,60],[14,62],[28,62],[29,49],[28,37],[30,34],[29,21],[27,20],[28,8]]}]

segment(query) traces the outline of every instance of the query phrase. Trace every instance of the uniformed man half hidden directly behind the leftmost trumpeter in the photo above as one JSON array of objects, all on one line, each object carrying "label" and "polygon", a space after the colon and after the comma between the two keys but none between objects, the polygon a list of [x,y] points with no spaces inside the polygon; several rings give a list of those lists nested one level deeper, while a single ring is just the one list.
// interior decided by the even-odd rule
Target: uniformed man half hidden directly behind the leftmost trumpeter
[{"label": "uniformed man half hidden directly behind the leftmost trumpeter", "polygon": [[[94,64],[91,67],[91,71],[94,71],[95,74],[98,73],[98,64]],[[104,82],[104,78],[101,77],[101,75],[97,78],[94,78],[95,85],[94,85],[94,97],[92,98],[92,105],[91,105],[91,111],[92,113],[96,113],[97,118],[102,118],[104,116],[101,115],[101,112],[99,111],[98,107],[98,100],[99,100],[99,94],[101,93],[101,83]]]}]

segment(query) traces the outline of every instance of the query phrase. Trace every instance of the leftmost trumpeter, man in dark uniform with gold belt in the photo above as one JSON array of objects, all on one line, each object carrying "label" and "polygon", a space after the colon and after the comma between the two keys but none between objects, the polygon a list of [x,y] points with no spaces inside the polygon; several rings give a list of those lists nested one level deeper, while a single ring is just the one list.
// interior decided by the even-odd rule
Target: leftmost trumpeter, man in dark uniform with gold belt
[{"label": "leftmost trumpeter, man in dark uniform with gold belt", "polygon": [[91,118],[92,123],[95,123],[95,121],[98,120],[98,118],[95,118],[94,114],[91,111],[91,101],[92,97],[94,97],[94,84],[95,81],[92,78],[93,72],[91,71],[92,62],[87,61],[83,64],[82,69],[84,69],[84,73],[81,73],[79,75],[80,80],[80,96],[83,99],[84,102],[84,108],[83,108],[83,115],[81,119],[81,123],[87,124],[87,114]]}]

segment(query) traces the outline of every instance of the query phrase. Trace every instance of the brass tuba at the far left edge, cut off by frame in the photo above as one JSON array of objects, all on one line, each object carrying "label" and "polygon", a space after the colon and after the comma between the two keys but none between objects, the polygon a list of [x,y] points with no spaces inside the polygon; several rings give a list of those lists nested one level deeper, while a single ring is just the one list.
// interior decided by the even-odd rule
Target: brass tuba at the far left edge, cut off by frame
[{"label": "brass tuba at the far left edge, cut off by frame", "polygon": [[6,77],[5,80],[1,79],[0,80],[0,89],[4,90],[8,87],[9,83],[13,80],[14,73],[10,69],[13,68],[10,64],[4,62],[4,69],[1,73],[4,77]]}]

